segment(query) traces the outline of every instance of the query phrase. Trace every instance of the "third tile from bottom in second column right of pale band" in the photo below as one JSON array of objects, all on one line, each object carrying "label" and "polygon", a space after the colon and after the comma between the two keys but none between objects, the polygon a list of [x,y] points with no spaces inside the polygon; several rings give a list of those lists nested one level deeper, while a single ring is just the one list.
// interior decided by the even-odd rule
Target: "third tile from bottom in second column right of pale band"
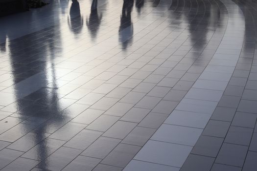
[{"label": "third tile from bottom in second column right of pale band", "polygon": [[249,146],[253,134],[252,128],[231,126],[224,140],[225,143]]}]

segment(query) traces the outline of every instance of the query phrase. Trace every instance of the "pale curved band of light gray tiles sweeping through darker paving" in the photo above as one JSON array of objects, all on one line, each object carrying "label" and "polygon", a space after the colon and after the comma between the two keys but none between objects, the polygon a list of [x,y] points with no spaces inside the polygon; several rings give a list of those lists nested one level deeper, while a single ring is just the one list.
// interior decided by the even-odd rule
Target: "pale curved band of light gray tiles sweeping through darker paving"
[{"label": "pale curved band of light gray tiles sweeping through darker paving", "polygon": [[[124,171],[137,171],[145,166],[160,171],[172,166],[178,171],[207,125],[232,77],[244,40],[245,23],[241,9],[232,1],[221,2],[228,10],[228,25],[210,63]],[[238,48],[225,49],[229,44]],[[180,116],[191,116],[191,120],[185,123]]]}]

